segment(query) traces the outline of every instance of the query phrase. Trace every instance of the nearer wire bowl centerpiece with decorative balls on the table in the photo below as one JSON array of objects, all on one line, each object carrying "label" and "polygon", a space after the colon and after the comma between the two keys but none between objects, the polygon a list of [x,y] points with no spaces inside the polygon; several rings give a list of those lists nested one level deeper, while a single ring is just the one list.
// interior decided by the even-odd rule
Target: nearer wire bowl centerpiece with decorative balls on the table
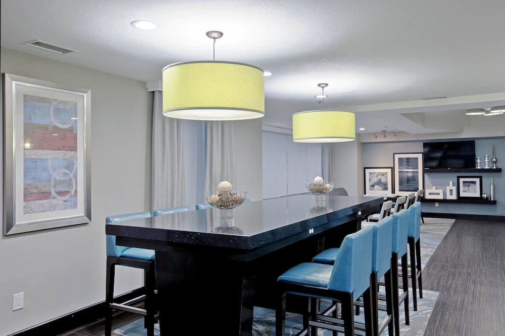
[{"label": "nearer wire bowl centerpiece with decorative balls on the table", "polygon": [[233,218],[233,209],[244,203],[247,191],[233,191],[233,186],[228,181],[218,184],[218,191],[207,191],[205,200],[211,206],[221,209],[221,218]]}]

